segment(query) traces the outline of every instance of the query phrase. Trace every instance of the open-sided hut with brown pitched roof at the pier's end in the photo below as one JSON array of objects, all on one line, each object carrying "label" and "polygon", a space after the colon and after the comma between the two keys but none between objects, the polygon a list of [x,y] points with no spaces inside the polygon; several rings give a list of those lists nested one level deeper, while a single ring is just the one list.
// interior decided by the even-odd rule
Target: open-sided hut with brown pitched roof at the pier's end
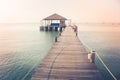
[{"label": "open-sided hut with brown pitched roof at the pier's end", "polygon": [[66,27],[65,21],[67,20],[67,18],[58,15],[58,14],[52,14],[46,18],[44,18],[41,21],[42,27],[45,28],[45,31],[58,31],[58,28],[60,28],[60,30],[62,30],[62,28]]}]

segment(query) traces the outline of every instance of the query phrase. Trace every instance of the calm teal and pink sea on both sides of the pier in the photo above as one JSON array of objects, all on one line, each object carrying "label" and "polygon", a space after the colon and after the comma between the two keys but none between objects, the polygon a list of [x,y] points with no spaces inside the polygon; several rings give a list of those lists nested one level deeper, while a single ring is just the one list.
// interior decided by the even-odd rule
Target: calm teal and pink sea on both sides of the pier
[{"label": "calm teal and pink sea on both sides of the pier", "polygon": [[[40,32],[39,24],[0,24],[0,80],[30,80],[57,34]],[[120,80],[120,26],[79,25],[79,38]]]}]

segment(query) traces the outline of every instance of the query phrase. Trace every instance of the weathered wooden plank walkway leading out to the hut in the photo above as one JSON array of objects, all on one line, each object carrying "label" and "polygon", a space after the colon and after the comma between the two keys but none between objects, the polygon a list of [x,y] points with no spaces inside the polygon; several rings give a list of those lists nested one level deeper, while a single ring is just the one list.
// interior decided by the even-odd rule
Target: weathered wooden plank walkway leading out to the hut
[{"label": "weathered wooden plank walkway leading out to the hut", "polygon": [[31,80],[103,80],[71,27],[66,27]]}]

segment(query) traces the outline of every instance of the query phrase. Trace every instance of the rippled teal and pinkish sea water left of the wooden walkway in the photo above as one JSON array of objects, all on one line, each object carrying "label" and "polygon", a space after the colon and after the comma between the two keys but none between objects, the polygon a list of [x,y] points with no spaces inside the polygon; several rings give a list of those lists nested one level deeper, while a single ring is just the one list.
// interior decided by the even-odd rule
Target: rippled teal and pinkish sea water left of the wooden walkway
[{"label": "rippled teal and pinkish sea water left of the wooden walkway", "polygon": [[57,34],[38,24],[0,25],[0,80],[29,80]]}]

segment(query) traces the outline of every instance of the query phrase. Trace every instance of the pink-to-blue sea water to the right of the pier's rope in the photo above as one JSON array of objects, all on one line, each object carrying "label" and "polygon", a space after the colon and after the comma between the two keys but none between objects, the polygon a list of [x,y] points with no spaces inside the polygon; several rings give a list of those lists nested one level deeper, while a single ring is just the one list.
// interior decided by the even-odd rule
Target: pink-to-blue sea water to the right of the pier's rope
[{"label": "pink-to-blue sea water to the right of the pier's rope", "polygon": [[79,38],[96,50],[111,72],[120,79],[120,25],[79,25]]}]

